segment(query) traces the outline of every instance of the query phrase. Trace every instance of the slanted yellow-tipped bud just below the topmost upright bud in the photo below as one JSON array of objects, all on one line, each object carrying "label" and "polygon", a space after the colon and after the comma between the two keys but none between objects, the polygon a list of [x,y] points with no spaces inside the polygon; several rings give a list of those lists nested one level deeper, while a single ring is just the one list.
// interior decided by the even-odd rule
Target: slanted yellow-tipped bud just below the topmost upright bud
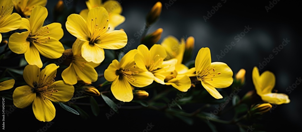
[{"label": "slanted yellow-tipped bud just below the topmost upright bud", "polygon": [[157,43],[162,37],[162,31],[162,28],[159,28],[150,34],[147,34],[145,37],[143,37],[141,43],[145,45],[153,45]]}]

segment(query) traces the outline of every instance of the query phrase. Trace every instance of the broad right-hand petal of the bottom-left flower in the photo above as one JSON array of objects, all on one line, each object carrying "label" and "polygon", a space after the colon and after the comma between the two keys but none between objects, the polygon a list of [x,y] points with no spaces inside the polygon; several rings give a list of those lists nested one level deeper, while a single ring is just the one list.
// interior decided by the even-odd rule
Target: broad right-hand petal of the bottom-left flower
[{"label": "broad right-hand petal of the bottom-left flower", "polygon": [[[67,84],[62,80],[53,82],[53,84],[51,84],[48,89],[52,89],[52,88],[54,88],[53,95],[45,96],[45,97],[54,102],[69,101],[72,98],[73,93],[75,91],[72,85]],[[56,90],[58,90],[58,92],[55,92]]]}]

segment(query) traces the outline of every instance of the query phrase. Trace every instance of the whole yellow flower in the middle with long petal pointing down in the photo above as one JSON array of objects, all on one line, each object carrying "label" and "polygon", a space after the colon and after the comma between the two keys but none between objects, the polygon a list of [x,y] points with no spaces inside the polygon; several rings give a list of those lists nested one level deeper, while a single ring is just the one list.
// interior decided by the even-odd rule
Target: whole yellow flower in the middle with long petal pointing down
[{"label": "whole yellow flower in the middle with long petal pointing down", "polygon": [[120,101],[129,102],[133,99],[132,87],[150,85],[154,76],[151,72],[140,69],[134,62],[133,56],[137,50],[130,50],[118,62],[113,60],[104,72],[107,81],[112,82],[111,92]]}]

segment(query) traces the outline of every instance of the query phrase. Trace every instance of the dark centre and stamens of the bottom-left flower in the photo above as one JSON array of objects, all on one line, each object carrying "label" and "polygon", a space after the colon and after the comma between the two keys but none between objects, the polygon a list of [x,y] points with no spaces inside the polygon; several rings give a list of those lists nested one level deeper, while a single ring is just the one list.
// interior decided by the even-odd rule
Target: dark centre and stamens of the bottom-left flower
[{"label": "dark centre and stamens of the bottom-left flower", "polygon": [[[39,75],[37,75],[37,77],[39,77]],[[55,90],[55,86],[51,86],[50,85],[55,82],[54,78],[56,77],[56,75],[53,76],[53,78],[50,78],[50,76],[44,75],[43,79],[40,78],[40,81],[38,82],[38,84],[35,85],[34,88],[34,92],[39,93],[40,95],[42,95],[41,97],[45,100],[45,97],[48,98],[53,98],[51,97],[53,95],[53,92],[59,92],[58,90]],[[53,98],[56,99],[56,98]]]}]

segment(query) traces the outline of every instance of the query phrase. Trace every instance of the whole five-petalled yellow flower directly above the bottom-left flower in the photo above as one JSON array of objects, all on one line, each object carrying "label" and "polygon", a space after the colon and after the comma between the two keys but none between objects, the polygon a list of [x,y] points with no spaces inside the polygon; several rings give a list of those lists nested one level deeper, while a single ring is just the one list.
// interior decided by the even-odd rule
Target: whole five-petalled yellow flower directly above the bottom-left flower
[{"label": "whole five-petalled yellow flower directly above the bottom-left flower", "polygon": [[27,29],[27,31],[12,34],[8,41],[11,51],[24,53],[27,63],[37,65],[39,68],[43,66],[39,53],[47,58],[56,59],[64,52],[64,47],[59,41],[63,37],[61,24],[52,23],[43,26],[47,14],[45,7],[36,6],[29,19],[22,18],[19,29]]}]

